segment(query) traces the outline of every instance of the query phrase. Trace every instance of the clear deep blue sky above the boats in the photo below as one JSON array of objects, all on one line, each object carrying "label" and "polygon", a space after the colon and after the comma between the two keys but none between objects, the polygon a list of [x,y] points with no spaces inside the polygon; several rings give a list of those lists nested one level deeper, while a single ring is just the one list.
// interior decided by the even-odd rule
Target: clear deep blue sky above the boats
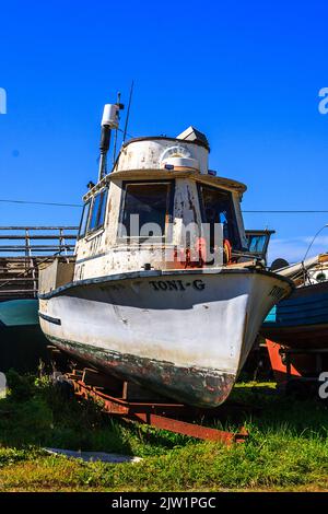
[{"label": "clear deep blue sky above the boats", "polygon": [[[307,5],[305,5],[307,3]],[[207,133],[244,210],[328,210],[324,1],[1,3],[0,199],[79,203],[97,175],[103,105],[134,96],[133,136]],[[80,210],[0,202],[0,225],[77,224]],[[245,213],[302,258],[324,214]],[[328,229],[313,250],[328,249]]]}]

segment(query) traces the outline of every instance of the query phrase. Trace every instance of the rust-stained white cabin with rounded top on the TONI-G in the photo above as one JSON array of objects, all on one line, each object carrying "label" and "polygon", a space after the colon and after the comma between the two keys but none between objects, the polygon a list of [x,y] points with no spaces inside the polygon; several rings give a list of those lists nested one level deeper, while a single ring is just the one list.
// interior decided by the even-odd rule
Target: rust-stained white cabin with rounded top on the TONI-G
[{"label": "rust-stained white cabin with rounded top on the TONI-G", "polygon": [[74,280],[200,266],[191,250],[204,245],[212,256],[207,267],[247,250],[241,213],[246,186],[215,176],[208,155],[206,137],[192,127],[177,138],[125,143],[112,173],[83,198]]}]

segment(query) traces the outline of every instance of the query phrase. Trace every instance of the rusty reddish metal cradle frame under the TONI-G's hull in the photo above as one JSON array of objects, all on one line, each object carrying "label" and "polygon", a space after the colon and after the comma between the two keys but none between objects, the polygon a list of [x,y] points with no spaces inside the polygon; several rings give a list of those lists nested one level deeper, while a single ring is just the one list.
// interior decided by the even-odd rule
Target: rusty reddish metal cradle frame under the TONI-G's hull
[{"label": "rusty reddish metal cradle frame under the TONI-G's hull", "polygon": [[[89,370],[91,371],[91,370]],[[96,373],[96,372],[95,372]],[[103,410],[110,416],[121,418],[127,421],[137,421],[145,423],[156,429],[168,430],[171,432],[197,437],[200,440],[220,441],[225,445],[233,443],[243,443],[248,436],[245,428],[237,433],[226,432],[201,424],[196,424],[177,419],[176,416],[192,416],[192,412],[206,414],[206,409],[192,409],[184,404],[161,402],[161,401],[128,401],[128,383],[122,383],[121,397],[110,396],[104,393],[103,387],[87,385],[85,371],[74,370],[73,373],[66,375],[74,388],[74,394],[84,399],[93,399],[102,404]]]}]

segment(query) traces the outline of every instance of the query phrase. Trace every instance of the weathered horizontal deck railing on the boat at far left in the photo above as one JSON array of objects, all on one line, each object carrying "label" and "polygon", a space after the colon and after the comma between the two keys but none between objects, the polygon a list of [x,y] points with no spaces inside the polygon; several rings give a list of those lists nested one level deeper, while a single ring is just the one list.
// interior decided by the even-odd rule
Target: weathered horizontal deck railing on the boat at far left
[{"label": "weathered horizontal deck railing on the boat at far left", "polygon": [[33,299],[38,266],[73,255],[77,226],[0,226],[0,301]]}]

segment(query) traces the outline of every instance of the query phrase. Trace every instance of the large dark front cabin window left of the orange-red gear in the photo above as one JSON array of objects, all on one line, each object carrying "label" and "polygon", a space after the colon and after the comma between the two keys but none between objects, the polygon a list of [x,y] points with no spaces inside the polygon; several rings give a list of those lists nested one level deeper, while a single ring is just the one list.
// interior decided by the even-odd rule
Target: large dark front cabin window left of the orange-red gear
[{"label": "large dark front cabin window left of the orange-red gear", "polygon": [[162,240],[169,218],[171,197],[171,183],[126,184],[120,235]]}]

